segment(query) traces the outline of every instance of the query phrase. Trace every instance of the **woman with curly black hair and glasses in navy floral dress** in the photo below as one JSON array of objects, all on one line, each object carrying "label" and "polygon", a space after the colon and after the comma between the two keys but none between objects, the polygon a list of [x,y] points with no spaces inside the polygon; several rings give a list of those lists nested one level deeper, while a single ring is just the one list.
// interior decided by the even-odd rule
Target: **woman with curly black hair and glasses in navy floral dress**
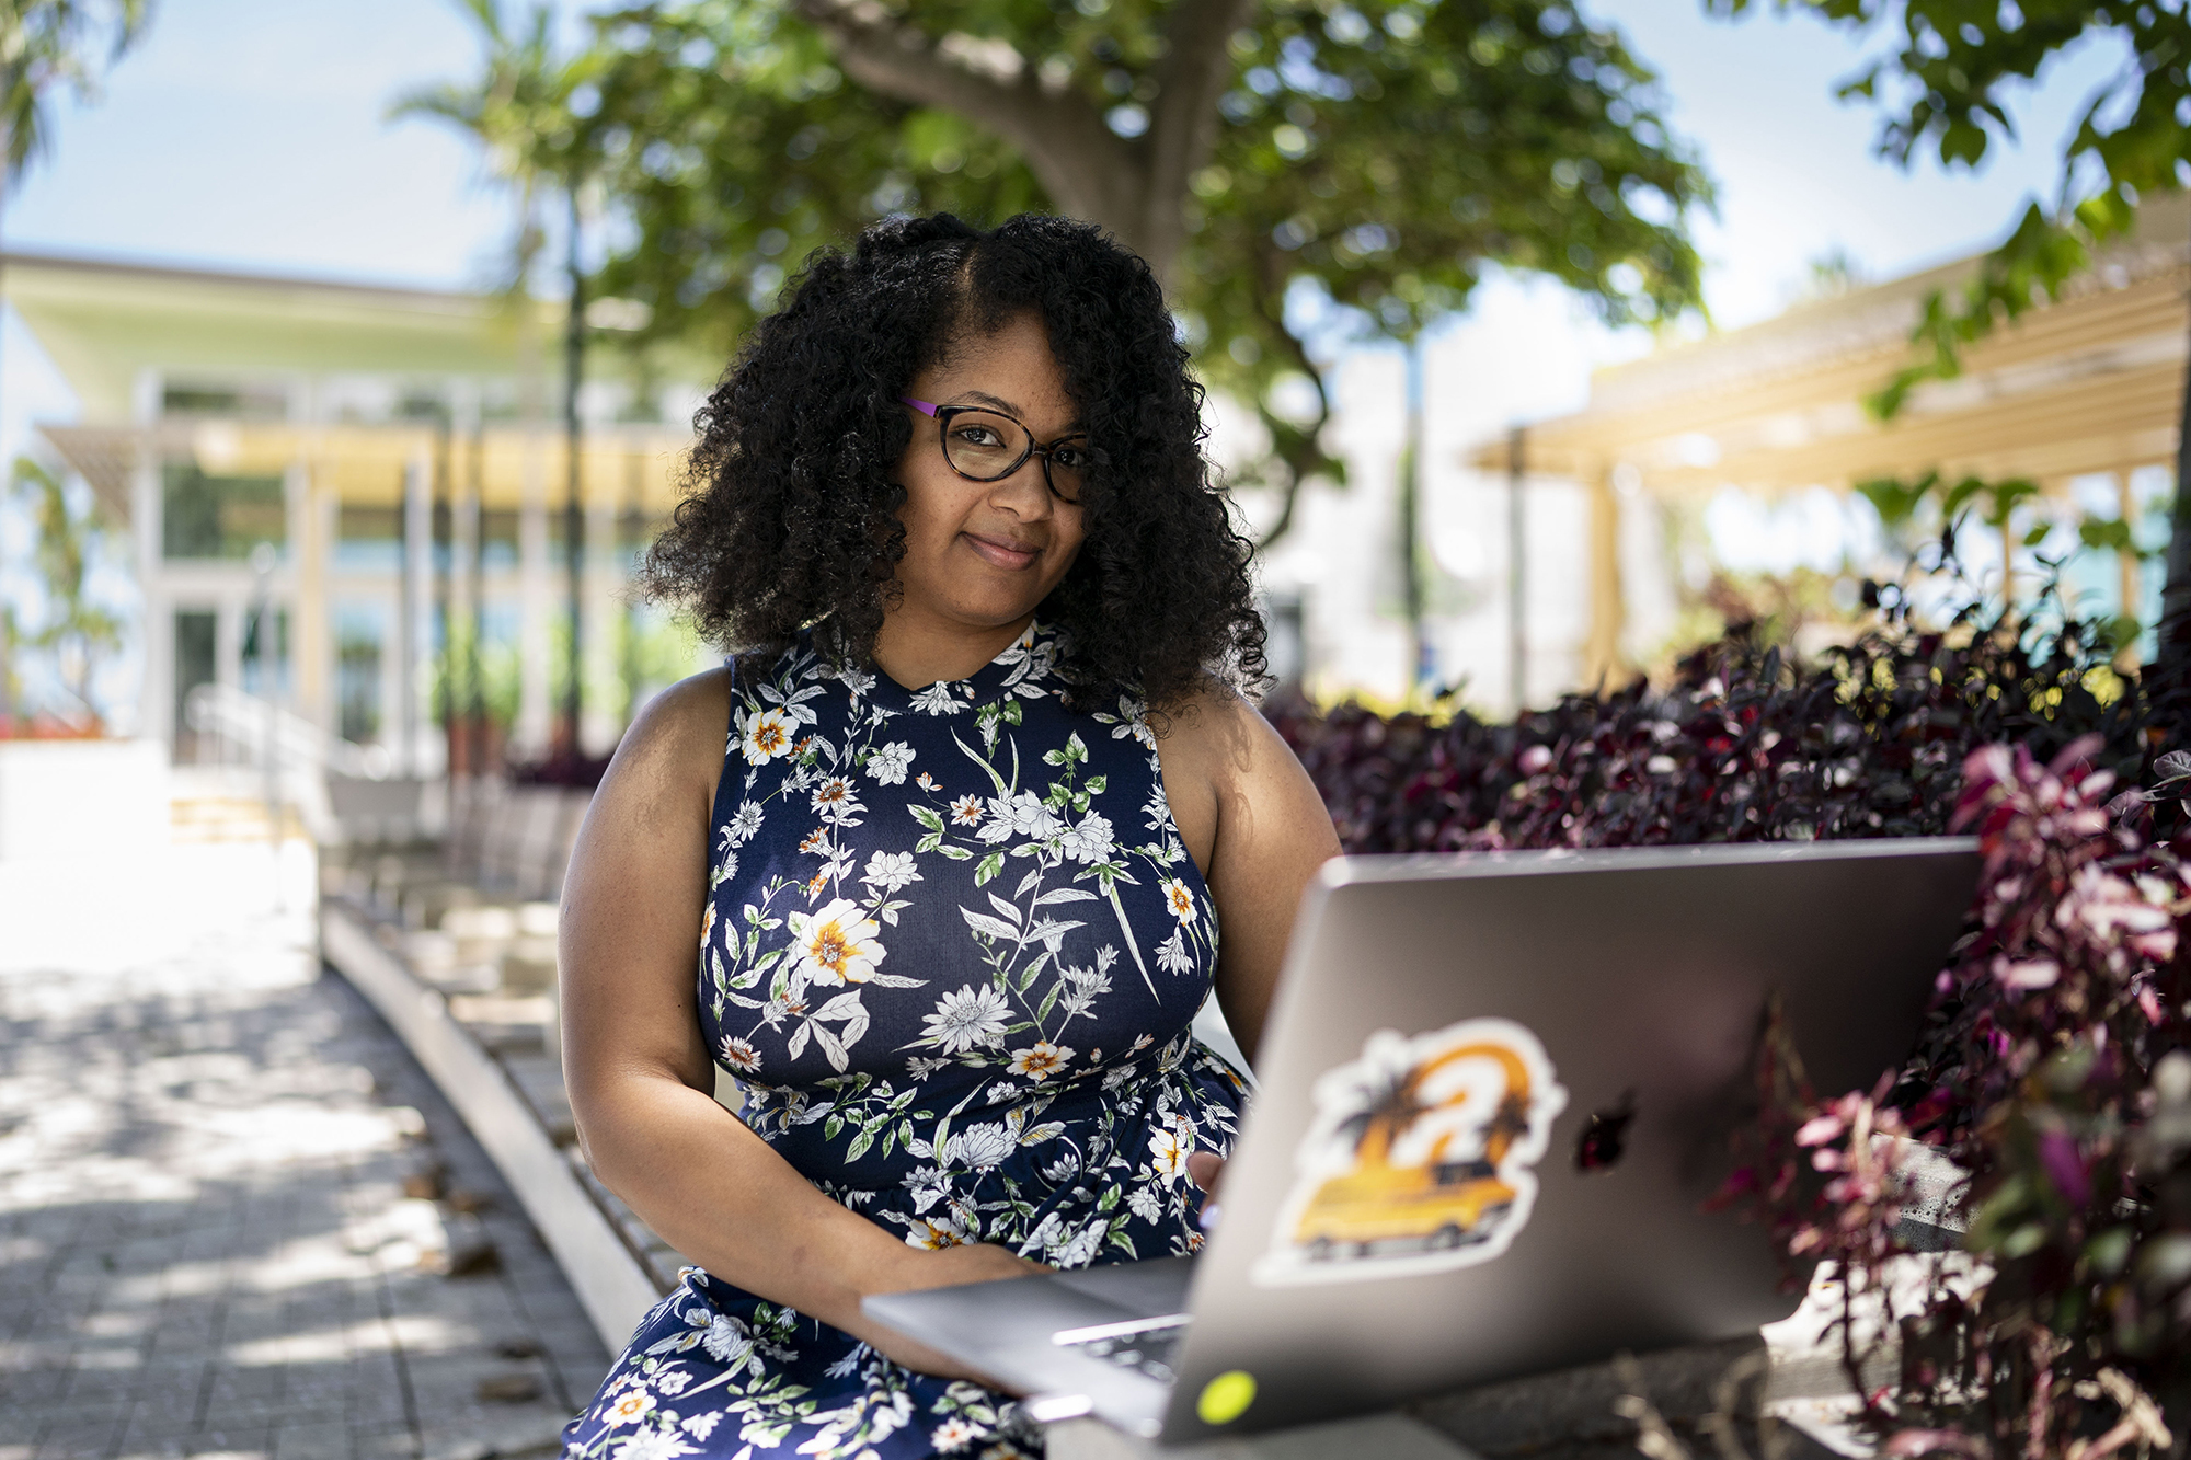
[{"label": "woman with curly black hair and glasses in navy floral dress", "polygon": [[585,1153],[699,1267],[565,1456],[1036,1453],[859,1300],[1194,1250],[1242,1085],[1190,1019],[1214,982],[1253,1059],[1337,851],[1236,688],[1201,390],[1098,230],[903,219],[699,430],[649,579],[738,653],[624,737],[561,965]]}]

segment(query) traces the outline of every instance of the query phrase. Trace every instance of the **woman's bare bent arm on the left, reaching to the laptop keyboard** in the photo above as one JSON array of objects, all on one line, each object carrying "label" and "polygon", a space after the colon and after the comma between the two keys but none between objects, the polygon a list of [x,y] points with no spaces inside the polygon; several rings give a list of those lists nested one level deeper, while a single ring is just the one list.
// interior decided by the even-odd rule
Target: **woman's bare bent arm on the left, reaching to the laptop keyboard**
[{"label": "woman's bare bent arm on the left, reaching to the laptop keyboard", "polygon": [[942,1355],[874,1326],[868,1293],[1032,1271],[1003,1247],[922,1252],[824,1197],[714,1100],[699,1028],[708,822],[730,675],[657,695],[624,734],[563,881],[563,1074],[594,1175],[664,1241],[749,1293],[933,1375]]}]

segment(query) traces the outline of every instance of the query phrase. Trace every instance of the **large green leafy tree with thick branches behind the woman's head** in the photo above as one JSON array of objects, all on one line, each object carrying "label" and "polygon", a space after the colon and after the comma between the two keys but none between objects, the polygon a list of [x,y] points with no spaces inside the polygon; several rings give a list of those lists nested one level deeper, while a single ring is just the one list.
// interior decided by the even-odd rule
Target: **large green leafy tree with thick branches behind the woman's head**
[{"label": "large green leafy tree with thick branches behind the woman's head", "polygon": [[885,213],[1054,206],[1137,248],[1205,379],[1262,414],[1273,537],[1339,476],[1319,340],[1407,340],[1488,265],[1613,322],[1700,303],[1709,184],[1650,72],[1562,0],[679,0],[596,24],[631,224],[600,287],[655,331],[727,353],[789,261]]}]

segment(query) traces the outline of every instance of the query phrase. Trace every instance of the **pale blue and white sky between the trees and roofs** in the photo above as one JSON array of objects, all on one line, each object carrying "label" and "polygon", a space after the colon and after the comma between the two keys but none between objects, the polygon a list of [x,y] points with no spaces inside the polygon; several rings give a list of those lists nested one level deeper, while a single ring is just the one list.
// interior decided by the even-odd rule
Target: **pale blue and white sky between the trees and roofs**
[{"label": "pale blue and white sky between the trees and roofs", "polygon": [[[1667,121],[1718,182],[1718,215],[1696,237],[1720,327],[1781,309],[1829,250],[1889,278],[1987,248],[2029,197],[2053,193],[2070,116],[2112,61],[2086,46],[2044,72],[2018,112],[2024,145],[1996,149],[1976,175],[1935,162],[1904,173],[1873,158],[1875,114],[1834,101],[1867,42],[1762,2],[1740,22],[1705,18],[1702,0],[1584,9],[1659,70]],[[508,248],[508,199],[456,132],[388,118],[397,96],[462,79],[478,55],[451,0],[158,0],[101,99],[55,101],[50,153],[7,199],[0,239],[31,252],[489,285]],[[1450,401],[1446,434],[1488,434],[1582,406],[1593,366],[1643,349],[1637,331],[1595,327],[1560,289],[1507,278],[1442,331],[1429,379],[1433,399]],[[72,414],[66,384],[9,316],[0,460],[24,447],[31,421]],[[0,561],[20,561],[26,533],[20,513],[0,515]]]}]

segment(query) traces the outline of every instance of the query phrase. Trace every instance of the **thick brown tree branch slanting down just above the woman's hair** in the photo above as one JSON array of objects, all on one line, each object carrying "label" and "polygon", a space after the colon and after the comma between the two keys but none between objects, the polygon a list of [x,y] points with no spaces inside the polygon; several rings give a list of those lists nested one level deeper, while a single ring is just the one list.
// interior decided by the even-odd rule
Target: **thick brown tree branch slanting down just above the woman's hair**
[{"label": "thick brown tree branch slanting down just above the woman's hair", "polygon": [[868,90],[988,127],[1019,149],[1060,210],[1137,239],[1142,169],[1133,151],[1085,96],[1043,90],[1008,42],[933,39],[874,0],[798,0],[798,13]]}]

